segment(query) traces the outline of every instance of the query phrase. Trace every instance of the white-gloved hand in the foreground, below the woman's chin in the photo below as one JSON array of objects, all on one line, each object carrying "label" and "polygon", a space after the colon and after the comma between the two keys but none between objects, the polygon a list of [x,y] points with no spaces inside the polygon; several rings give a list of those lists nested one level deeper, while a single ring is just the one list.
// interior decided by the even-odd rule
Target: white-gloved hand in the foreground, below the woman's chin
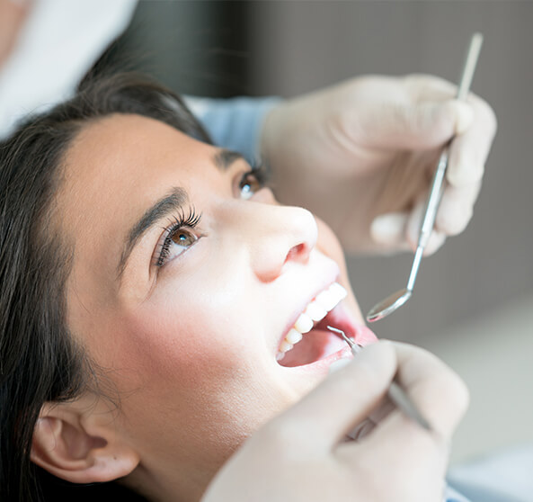
[{"label": "white-gloved hand in the foreground, below the woman's chin", "polygon": [[[432,432],[394,409],[360,442],[346,442],[396,372]],[[202,502],[441,502],[449,439],[466,402],[462,381],[433,355],[370,345],[244,443]]]}]

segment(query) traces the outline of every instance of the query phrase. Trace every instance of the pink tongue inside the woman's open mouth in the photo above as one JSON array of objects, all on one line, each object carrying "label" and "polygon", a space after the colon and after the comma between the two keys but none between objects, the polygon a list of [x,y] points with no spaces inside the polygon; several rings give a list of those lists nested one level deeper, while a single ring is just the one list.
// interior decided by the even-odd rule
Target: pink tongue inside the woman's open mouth
[{"label": "pink tongue inside the woman's open mouth", "polygon": [[315,328],[306,333],[303,339],[285,354],[280,365],[292,368],[315,363],[341,350],[344,346],[345,343],[331,331]]}]

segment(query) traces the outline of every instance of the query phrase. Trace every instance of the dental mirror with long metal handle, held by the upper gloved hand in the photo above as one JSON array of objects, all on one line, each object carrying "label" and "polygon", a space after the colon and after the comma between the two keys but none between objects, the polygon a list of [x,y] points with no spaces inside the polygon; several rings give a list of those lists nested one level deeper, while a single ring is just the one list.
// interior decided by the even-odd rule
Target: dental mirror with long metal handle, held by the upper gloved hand
[{"label": "dental mirror with long metal handle, held by the upper gloved hand", "polygon": [[[470,45],[466,54],[465,66],[463,67],[463,73],[457,90],[457,100],[464,100],[472,77],[474,76],[475,64],[479,57],[479,51],[483,43],[483,35],[481,33],[474,33],[470,40]],[[446,169],[448,167],[449,147],[452,139],[449,140],[448,145],[442,151],[439,158],[439,164],[433,175],[433,181],[431,182],[431,190],[426,202],[426,208],[424,211],[424,217],[422,220],[422,227],[418,236],[418,245],[414,253],[413,265],[411,266],[411,273],[407,281],[407,287],[404,290],[396,291],[388,296],[385,300],[381,300],[378,304],[374,305],[367,314],[367,320],[369,322],[377,321],[381,318],[385,318],[389,314],[392,314],[396,309],[399,309],[404,303],[411,298],[413,294],[414,282],[416,281],[416,275],[422,261],[422,254],[424,248],[428,244],[428,240],[431,237],[431,231],[435,224],[435,218],[437,217],[437,211],[439,210],[440,199],[444,192],[444,175],[446,175]]]}]

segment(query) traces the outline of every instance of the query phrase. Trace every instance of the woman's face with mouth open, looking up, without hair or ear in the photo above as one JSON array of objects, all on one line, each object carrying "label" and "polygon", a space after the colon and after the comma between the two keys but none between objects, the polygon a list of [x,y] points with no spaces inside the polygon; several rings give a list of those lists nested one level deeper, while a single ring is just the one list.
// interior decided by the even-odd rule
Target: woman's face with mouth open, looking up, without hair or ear
[{"label": "woman's face with mouth open, looking up, without hair or ear", "polygon": [[[325,324],[373,339],[332,231],[280,206],[249,171],[137,115],[93,122],[67,152],[58,208],[75,244],[68,325],[120,392],[120,434],[162,479],[179,468],[206,483],[350,356]],[[333,306],[280,359],[291,327],[309,328],[302,312],[320,318]]]}]

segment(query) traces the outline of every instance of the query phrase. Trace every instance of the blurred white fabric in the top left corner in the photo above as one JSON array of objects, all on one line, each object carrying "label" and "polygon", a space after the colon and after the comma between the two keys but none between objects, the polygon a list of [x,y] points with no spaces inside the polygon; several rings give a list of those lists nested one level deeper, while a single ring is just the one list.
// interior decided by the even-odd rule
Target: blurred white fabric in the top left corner
[{"label": "blurred white fabric in the top left corner", "polygon": [[34,0],[0,68],[0,138],[29,112],[67,99],[128,26],[137,0]]}]

